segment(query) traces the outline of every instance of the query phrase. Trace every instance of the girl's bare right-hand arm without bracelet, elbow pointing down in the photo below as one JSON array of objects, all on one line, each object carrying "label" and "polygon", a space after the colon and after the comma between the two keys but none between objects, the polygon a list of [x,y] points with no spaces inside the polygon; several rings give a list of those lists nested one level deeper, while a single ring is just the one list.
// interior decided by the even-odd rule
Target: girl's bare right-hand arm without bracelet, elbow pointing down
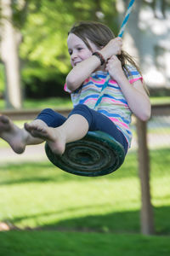
[{"label": "girl's bare right-hand arm without bracelet, elbow pointing down", "polygon": [[141,80],[130,84],[122,70],[121,61],[118,60],[116,55],[112,56],[108,61],[106,70],[110,73],[111,78],[115,79],[121,87],[122,93],[132,112],[143,121],[150,119],[150,98],[144,90]]}]

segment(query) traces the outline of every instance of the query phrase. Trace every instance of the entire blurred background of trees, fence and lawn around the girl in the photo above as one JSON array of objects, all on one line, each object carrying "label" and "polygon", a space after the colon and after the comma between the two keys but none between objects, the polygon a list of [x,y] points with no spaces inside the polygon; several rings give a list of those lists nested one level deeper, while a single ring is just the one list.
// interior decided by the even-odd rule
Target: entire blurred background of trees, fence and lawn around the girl
[{"label": "entire blurred background of trees, fence and lawn around the girl", "polygon": [[[1,113],[20,127],[42,108],[69,113],[68,31],[97,20],[117,35],[128,3],[0,0]],[[76,177],[53,166],[44,145],[16,155],[0,141],[0,230],[9,230],[1,255],[170,255],[169,42],[170,1],[135,1],[123,49],[144,75],[152,115],[144,124],[133,117],[132,147],[115,173]]]}]

